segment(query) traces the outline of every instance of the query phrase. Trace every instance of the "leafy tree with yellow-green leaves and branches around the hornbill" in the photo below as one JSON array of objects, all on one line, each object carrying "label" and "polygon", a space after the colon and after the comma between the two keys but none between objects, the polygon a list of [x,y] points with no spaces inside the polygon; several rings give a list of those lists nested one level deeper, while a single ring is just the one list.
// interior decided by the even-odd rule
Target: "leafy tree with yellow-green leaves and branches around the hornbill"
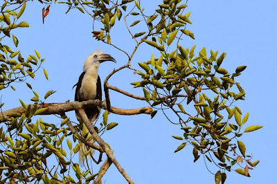
[{"label": "leafy tree with yellow-green leaves and branches around the hornbill", "polygon": [[[45,19],[53,1],[40,2],[47,5],[42,9],[42,17]],[[226,53],[218,54],[217,51],[211,50],[211,53],[207,54],[206,48],[202,48],[199,54],[196,54],[195,46],[184,48],[180,45],[184,36],[195,39],[193,33],[186,28],[188,24],[192,24],[189,19],[190,12],[187,11],[187,2],[163,1],[157,10],[152,10],[152,13],[146,13],[140,1],[132,0],[60,3],[68,6],[67,12],[78,9],[90,15],[94,21],[93,37],[99,42],[122,51],[128,59],[123,66],[107,75],[104,81],[105,102],[90,100],[81,103],[48,104],[33,91],[35,96],[31,100],[34,104],[27,105],[20,100],[21,107],[3,111],[1,122],[4,126],[0,129],[1,142],[4,145],[0,156],[3,182],[42,180],[44,183],[74,183],[74,179],[77,178],[78,181],[94,180],[94,183],[100,183],[109,166],[114,164],[126,180],[133,183],[114,158],[109,145],[99,135],[117,125],[115,122],[107,122],[109,113],[122,115],[148,113],[153,118],[157,111],[162,111],[169,122],[184,131],[182,135],[172,136],[181,140],[175,152],[189,144],[193,147],[194,161],[203,156],[205,160],[219,167],[219,171],[215,173],[215,183],[220,181],[224,183],[225,171],[230,172],[234,167],[235,172],[249,176],[249,168],[255,167],[258,161],[251,161],[251,156],[246,154],[244,143],[238,139],[244,132],[255,131],[261,126],[251,125],[244,129],[249,113],[242,116],[240,108],[234,105],[236,101],[244,100],[245,92],[236,79],[246,66],[238,66],[234,73],[229,73],[225,68],[220,67]],[[35,72],[44,62],[37,51],[35,55],[28,55],[27,59],[24,59],[19,51],[12,51],[12,46],[3,44],[12,36],[15,47],[18,46],[18,39],[12,34],[12,29],[28,27],[26,21],[18,21],[27,4],[28,1],[5,1],[1,6],[0,20],[3,23],[1,28],[3,40],[0,48],[1,90],[9,86],[15,89],[11,86],[12,83],[25,82],[26,77],[35,77]],[[8,8],[10,10],[7,10]],[[114,44],[114,40],[118,38],[112,36],[112,28],[121,26],[119,23],[122,21],[125,22],[129,35],[136,42],[131,54]],[[137,27],[138,25],[140,27]],[[141,68],[132,68],[130,64],[134,53],[144,43],[148,44],[148,48],[153,49],[153,53],[159,50],[159,56],[157,57],[155,53],[149,61],[139,62]],[[16,57],[17,60],[15,60]],[[141,88],[144,96],[128,93],[108,83],[115,73],[123,69],[132,70],[136,75],[141,76],[140,81],[132,84],[136,88]],[[44,75],[48,78],[45,69]],[[32,89],[31,84],[26,84]],[[144,100],[148,103],[148,107],[139,109],[112,107],[109,98],[111,90],[127,95],[129,98]],[[48,91],[44,99],[54,92]],[[83,108],[95,106],[105,109],[105,112],[102,114],[102,122],[91,125]],[[84,125],[98,145],[87,142],[91,137],[80,133],[80,129],[84,126],[82,122],[74,125],[71,118],[66,116],[67,111],[73,110],[79,111]],[[39,115],[50,114],[63,118],[60,126],[56,126],[56,123],[44,122],[42,118],[36,120]],[[172,118],[172,114],[175,117]],[[231,123],[233,119],[235,123]],[[243,132],[242,129],[244,129]],[[66,138],[66,148],[63,144],[64,138]],[[100,152],[99,159],[93,160],[102,165],[98,172],[92,171],[89,163],[84,171],[78,163],[73,163],[71,156],[80,149],[79,141],[85,142],[87,146]],[[90,151],[87,154],[89,153]],[[103,153],[107,158],[102,163]],[[48,160],[53,158],[57,159],[59,165],[50,167]],[[240,168],[239,164],[242,162],[247,165]]]}]

